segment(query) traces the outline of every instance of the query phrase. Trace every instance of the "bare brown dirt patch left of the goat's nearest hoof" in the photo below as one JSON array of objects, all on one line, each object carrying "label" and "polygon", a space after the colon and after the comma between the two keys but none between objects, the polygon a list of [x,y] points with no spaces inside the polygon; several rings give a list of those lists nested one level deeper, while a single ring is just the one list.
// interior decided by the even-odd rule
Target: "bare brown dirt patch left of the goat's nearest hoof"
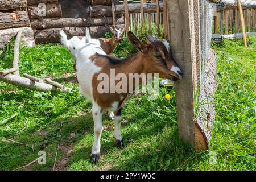
[{"label": "bare brown dirt patch left of the goat's nearest hoof", "polygon": [[68,165],[68,160],[71,157],[71,153],[74,150],[74,145],[75,143],[72,143],[68,146],[64,144],[60,144],[57,151],[59,152],[64,152],[63,157],[59,160],[56,161],[55,165],[50,168],[50,171],[64,171],[67,168]]}]

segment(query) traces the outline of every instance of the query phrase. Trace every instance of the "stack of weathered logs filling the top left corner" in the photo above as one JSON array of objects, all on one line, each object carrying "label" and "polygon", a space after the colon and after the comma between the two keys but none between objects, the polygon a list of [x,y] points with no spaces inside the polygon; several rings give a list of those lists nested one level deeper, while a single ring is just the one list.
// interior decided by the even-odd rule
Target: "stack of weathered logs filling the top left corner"
[{"label": "stack of weathered logs filling the top left corner", "polygon": [[17,32],[22,32],[25,46],[34,46],[34,34],[30,27],[26,0],[0,1],[0,49],[5,49]]}]

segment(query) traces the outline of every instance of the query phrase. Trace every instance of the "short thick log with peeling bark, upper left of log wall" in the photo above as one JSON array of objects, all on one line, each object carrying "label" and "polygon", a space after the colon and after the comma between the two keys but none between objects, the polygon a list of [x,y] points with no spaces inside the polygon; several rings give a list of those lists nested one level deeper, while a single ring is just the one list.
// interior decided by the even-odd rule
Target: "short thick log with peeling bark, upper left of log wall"
[{"label": "short thick log with peeling bark, upper left of log wall", "polygon": [[42,7],[28,6],[28,14],[31,19],[37,18],[60,18],[62,16],[61,6],[58,5],[46,5],[46,11]]}]

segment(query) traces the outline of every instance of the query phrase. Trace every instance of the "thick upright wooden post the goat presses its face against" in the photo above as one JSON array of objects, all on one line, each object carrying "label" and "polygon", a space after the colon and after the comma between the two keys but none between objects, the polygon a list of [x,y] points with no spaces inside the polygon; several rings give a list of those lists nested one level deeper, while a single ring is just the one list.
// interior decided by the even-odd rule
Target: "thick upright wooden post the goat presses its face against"
[{"label": "thick upright wooden post the goat presses its face against", "polygon": [[[199,100],[199,98],[197,99],[197,89],[200,86],[198,72],[201,72],[201,68],[198,65],[201,59],[199,6],[200,0],[167,1],[171,51],[174,60],[183,72],[183,79],[175,82],[179,138],[195,147],[196,151],[207,150],[207,143],[210,138],[210,135],[208,135],[209,138],[205,137],[205,130],[196,122],[195,108]],[[214,69],[216,68],[216,56],[212,51],[210,51],[209,55],[213,56],[212,64],[215,64],[215,66],[212,67],[212,72],[214,72],[216,71]],[[205,62],[206,65],[208,63],[209,61]],[[208,78],[215,77],[213,75]],[[207,77],[204,80],[206,79]],[[212,92],[209,93],[214,93],[214,88],[217,86],[211,84],[216,84],[216,80],[213,78],[208,83],[208,88],[213,88]],[[214,112],[210,113],[214,115]],[[205,122],[207,122],[206,125],[209,124],[208,121]]]}]

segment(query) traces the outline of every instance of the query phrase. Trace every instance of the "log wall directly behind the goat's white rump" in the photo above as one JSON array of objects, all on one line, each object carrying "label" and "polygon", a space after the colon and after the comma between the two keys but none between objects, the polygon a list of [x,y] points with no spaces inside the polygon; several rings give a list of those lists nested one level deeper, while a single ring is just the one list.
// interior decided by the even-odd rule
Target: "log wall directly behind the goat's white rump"
[{"label": "log wall directly behind the goat's white rump", "polygon": [[[64,29],[68,38],[74,35],[84,36],[89,27],[93,38],[102,38],[113,26],[112,14],[109,16],[91,16],[90,7],[112,7],[111,0],[27,0],[31,26],[34,29],[36,43],[59,42],[59,32]],[[46,14],[42,15],[40,3],[46,5]],[[118,0],[114,0],[118,4]],[[102,9],[104,11],[104,9]],[[117,16],[117,27],[124,26],[123,16]]]}]

